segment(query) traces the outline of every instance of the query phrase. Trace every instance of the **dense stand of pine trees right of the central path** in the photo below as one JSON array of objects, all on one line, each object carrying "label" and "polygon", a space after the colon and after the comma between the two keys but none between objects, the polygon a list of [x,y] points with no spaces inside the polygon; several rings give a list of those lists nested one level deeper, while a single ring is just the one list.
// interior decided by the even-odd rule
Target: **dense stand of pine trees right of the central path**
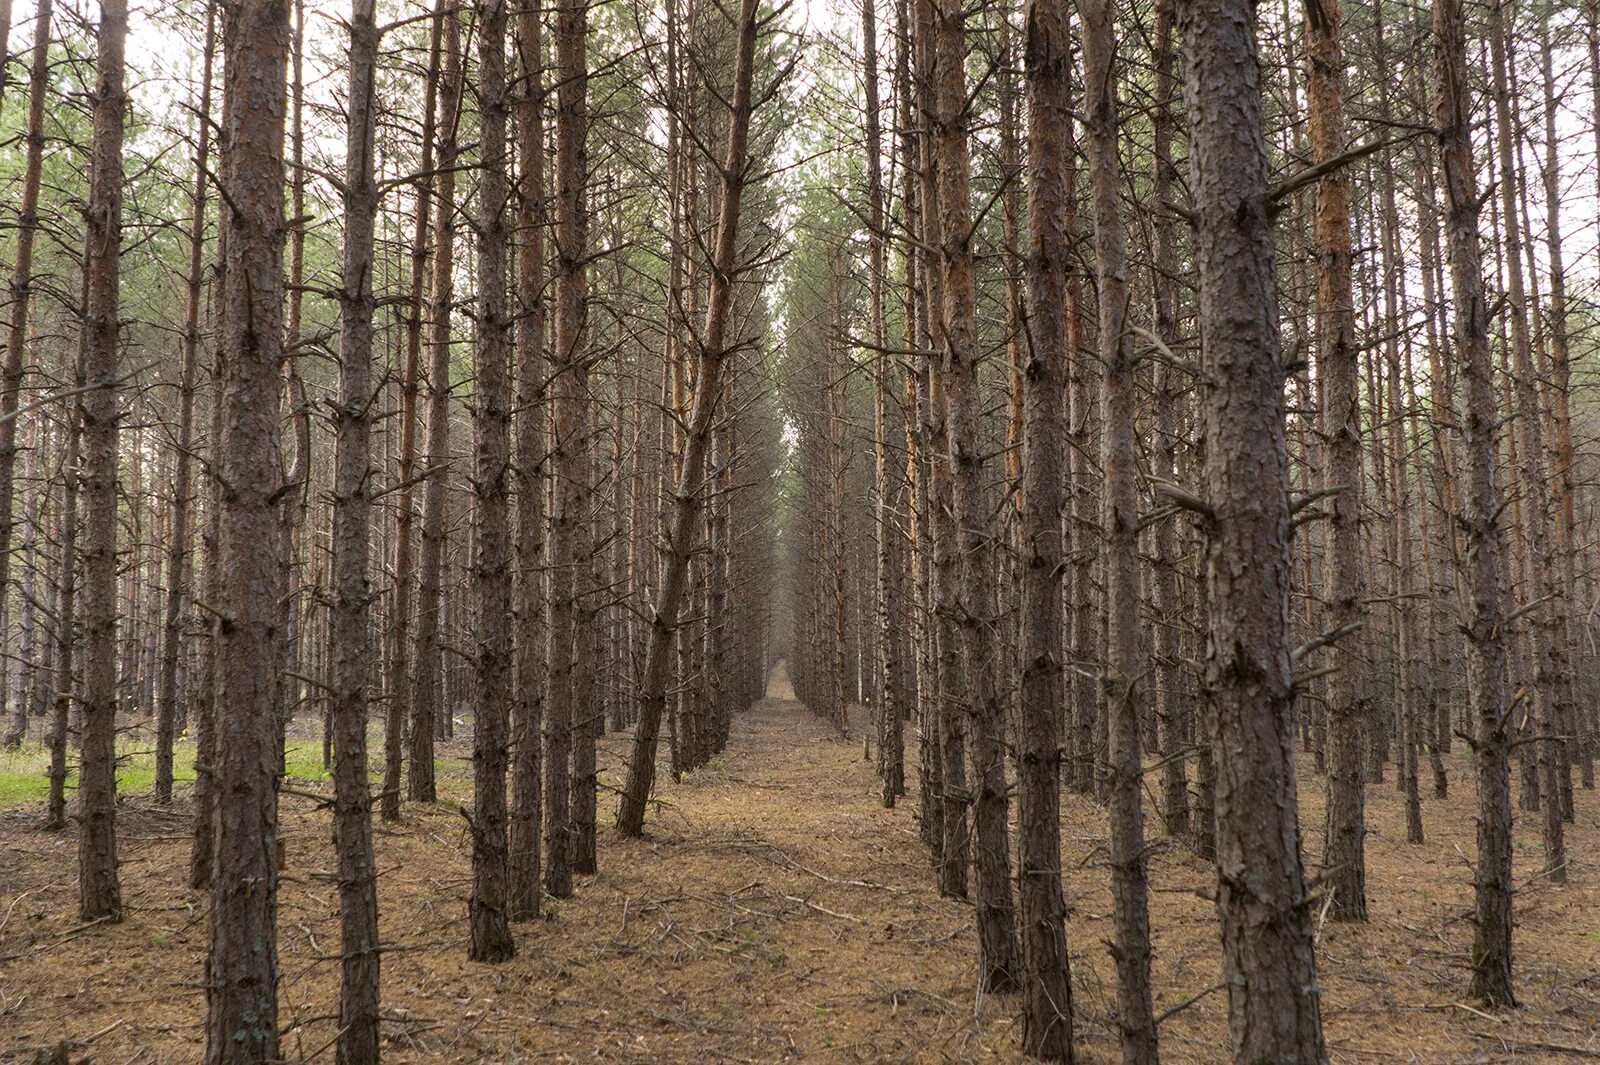
[{"label": "dense stand of pine trees right of the central path", "polygon": [[984,985],[1070,1059],[1064,785],[1107,811],[1125,1060],[1158,1054],[1147,814],[1218,864],[1235,1060],[1323,1060],[1312,919],[1366,918],[1392,769],[1413,843],[1424,792],[1475,790],[1472,993],[1515,1004],[1512,763],[1557,884],[1594,787],[1563,232],[1594,232],[1600,11],[861,14],[829,61],[867,106],[819,126],[864,158],[827,162],[790,280],[794,675],[874,708],[885,804],[917,723]]}]

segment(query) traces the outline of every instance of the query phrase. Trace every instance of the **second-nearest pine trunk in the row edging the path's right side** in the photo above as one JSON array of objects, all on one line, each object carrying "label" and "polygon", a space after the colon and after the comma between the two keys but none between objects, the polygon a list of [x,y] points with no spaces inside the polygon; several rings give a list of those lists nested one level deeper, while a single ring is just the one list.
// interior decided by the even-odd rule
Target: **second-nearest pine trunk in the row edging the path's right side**
[{"label": "second-nearest pine trunk in the row edging the path's right side", "polygon": [[960,531],[957,619],[966,667],[971,720],[974,872],[978,884],[979,980],[1003,993],[1019,985],[1016,919],[1011,903],[1011,844],[1006,832],[1005,707],[995,646],[989,580],[997,558],[986,497],[979,440],[978,289],[973,275],[968,181],[968,107],[965,10],[934,3],[933,157],[939,190],[941,265],[944,270],[946,446],[954,481],[952,517]]}]

